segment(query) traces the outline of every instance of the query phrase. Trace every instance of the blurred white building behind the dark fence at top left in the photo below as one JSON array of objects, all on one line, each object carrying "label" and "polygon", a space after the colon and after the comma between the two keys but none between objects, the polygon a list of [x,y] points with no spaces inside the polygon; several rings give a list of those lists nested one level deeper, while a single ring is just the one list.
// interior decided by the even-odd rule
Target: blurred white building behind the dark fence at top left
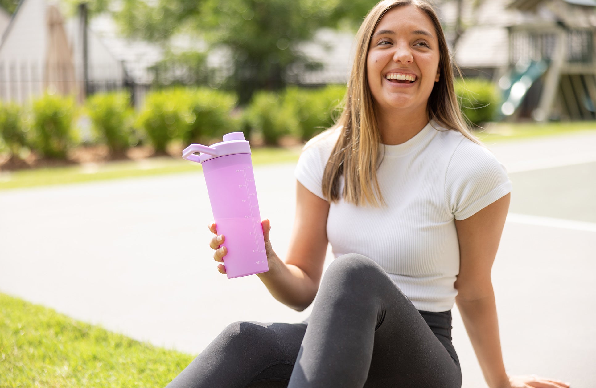
[{"label": "blurred white building behind the dark fence at top left", "polygon": [[[2,26],[0,15],[0,27]],[[0,100],[24,103],[44,92],[75,95],[125,87],[121,60],[87,29],[84,77],[82,25],[64,20],[55,2],[21,0],[0,42]]]}]

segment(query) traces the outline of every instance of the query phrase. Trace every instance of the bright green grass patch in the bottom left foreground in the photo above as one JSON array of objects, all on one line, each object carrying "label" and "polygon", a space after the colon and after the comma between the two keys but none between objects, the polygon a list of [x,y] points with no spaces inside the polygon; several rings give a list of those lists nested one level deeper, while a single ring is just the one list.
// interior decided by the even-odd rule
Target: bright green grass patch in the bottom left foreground
[{"label": "bright green grass patch in the bottom left foreground", "polygon": [[194,356],[0,293],[0,387],[164,387]]}]

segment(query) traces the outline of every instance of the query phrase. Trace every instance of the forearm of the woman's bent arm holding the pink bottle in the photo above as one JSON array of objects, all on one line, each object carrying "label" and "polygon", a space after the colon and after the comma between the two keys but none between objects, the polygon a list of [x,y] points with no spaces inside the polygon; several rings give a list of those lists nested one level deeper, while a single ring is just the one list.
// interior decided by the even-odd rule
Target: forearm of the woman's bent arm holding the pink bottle
[{"label": "forearm of the woman's bent arm holding the pink bottle", "polygon": [[315,299],[318,283],[296,265],[285,264],[274,255],[268,258],[269,271],[257,274],[271,295],[284,305],[303,311]]}]

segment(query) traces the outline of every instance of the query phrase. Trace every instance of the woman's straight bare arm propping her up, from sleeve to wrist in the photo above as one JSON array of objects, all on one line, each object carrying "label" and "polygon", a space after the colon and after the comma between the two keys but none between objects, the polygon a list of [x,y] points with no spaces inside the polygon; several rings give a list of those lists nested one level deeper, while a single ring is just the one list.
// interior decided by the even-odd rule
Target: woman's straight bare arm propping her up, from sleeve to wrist
[{"label": "woman's straight bare arm propping her up, from sleeve to wrist", "polygon": [[508,386],[499,339],[491,268],[509,209],[510,194],[465,220],[455,221],[460,242],[460,274],[455,298],[465,330],[476,352],[486,383]]}]

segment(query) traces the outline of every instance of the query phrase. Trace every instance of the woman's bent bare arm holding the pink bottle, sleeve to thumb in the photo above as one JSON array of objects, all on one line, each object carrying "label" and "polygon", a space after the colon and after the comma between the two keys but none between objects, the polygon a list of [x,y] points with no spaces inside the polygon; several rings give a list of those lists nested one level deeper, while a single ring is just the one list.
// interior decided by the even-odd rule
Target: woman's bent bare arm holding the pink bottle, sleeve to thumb
[{"label": "woman's bent bare arm holding the pink bottle, sleeve to thumb", "polygon": [[275,299],[297,311],[311,305],[319,289],[327,252],[328,213],[327,201],[296,182],[296,218],[285,262],[271,249],[271,227],[268,220],[263,221],[269,271],[257,276]]}]

